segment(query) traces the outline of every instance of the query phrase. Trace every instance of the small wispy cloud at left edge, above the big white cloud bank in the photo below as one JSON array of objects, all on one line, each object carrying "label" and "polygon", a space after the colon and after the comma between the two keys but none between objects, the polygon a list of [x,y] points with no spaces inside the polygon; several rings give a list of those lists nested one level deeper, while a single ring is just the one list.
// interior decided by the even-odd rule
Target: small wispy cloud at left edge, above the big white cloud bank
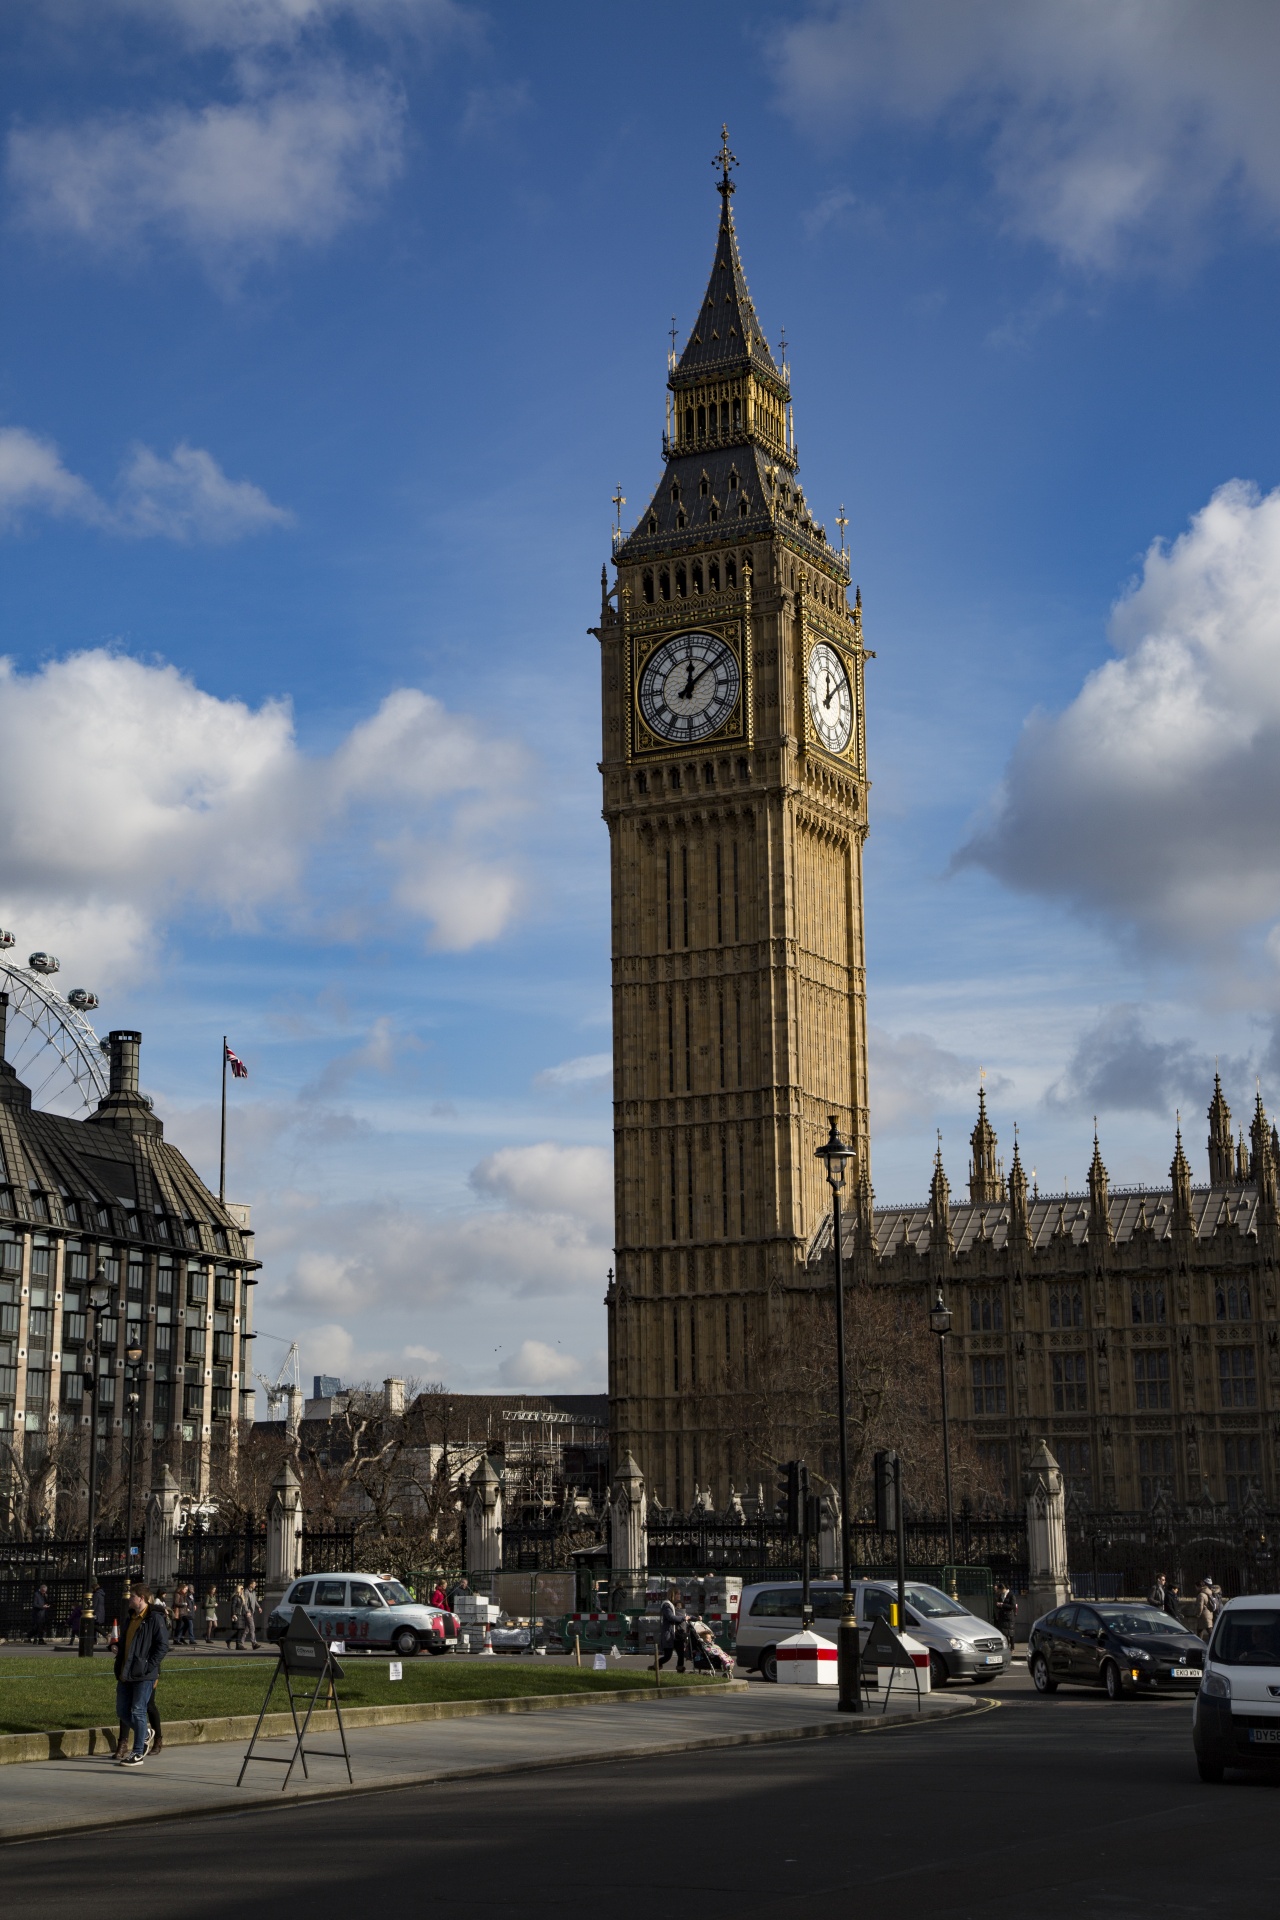
[{"label": "small wispy cloud at left edge, above the big white cloud bank", "polygon": [[52,440],[25,426],[0,426],[0,532],[40,513],[136,540],[213,545],[294,522],[294,515],[251,480],[228,480],[211,453],[186,442],[167,461],[150,447],[134,447],[121,468],[115,499],[107,501],[63,467]]}]

